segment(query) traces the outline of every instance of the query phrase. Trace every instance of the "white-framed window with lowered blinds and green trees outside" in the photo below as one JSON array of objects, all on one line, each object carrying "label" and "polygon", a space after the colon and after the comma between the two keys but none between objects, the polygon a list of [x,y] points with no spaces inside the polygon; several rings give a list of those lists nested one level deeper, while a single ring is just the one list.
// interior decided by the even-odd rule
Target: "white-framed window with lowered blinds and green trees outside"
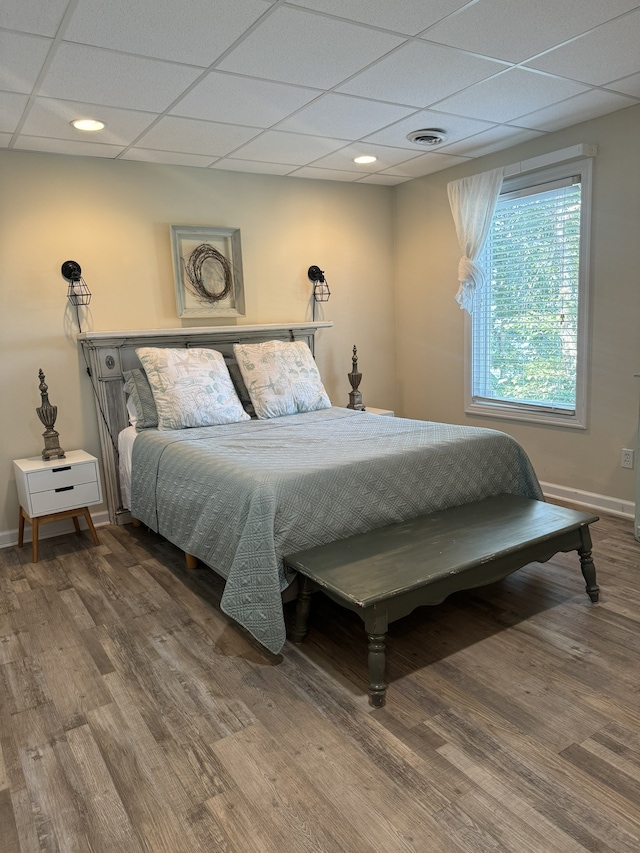
[{"label": "white-framed window with lowered blinds and green trees outside", "polygon": [[586,426],[590,185],[591,160],[504,182],[467,329],[467,412]]}]

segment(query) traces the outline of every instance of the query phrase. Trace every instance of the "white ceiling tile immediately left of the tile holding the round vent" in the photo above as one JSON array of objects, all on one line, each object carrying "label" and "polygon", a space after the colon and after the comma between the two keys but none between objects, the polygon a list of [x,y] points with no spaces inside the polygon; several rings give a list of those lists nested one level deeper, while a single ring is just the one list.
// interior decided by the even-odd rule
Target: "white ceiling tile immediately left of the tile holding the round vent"
[{"label": "white ceiling tile immediately left of the tile holding the round vent", "polygon": [[413,112],[411,107],[398,107],[380,101],[354,98],[351,95],[329,93],[284,119],[278,129],[317,136],[360,139]]}]

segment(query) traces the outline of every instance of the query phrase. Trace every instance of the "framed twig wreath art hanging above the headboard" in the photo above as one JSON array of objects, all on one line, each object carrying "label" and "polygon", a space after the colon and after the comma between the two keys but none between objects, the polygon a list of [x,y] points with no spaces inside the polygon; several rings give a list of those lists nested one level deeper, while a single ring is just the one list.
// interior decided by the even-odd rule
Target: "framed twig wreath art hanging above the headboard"
[{"label": "framed twig wreath art hanging above the headboard", "polygon": [[178,317],[243,317],[239,228],[172,225]]}]

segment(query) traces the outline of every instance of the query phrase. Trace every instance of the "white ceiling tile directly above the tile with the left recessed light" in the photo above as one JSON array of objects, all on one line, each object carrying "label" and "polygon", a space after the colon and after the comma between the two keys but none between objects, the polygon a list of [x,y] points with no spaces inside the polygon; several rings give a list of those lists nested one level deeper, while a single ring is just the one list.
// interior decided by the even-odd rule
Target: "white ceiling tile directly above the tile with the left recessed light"
[{"label": "white ceiling tile directly above the tile with the left recessed light", "polygon": [[40,90],[111,107],[162,112],[202,71],[79,44],[61,44]]}]

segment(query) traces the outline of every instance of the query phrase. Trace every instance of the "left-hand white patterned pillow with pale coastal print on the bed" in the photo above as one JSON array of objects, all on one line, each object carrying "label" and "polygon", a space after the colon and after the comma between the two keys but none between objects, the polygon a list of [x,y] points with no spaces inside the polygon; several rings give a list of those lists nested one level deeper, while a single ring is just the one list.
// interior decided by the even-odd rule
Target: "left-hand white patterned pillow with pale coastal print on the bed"
[{"label": "left-hand white patterned pillow with pale coastal print on the bed", "polygon": [[141,347],[136,355],[153,392],[158,429],[250,420],[217,350]]}]

